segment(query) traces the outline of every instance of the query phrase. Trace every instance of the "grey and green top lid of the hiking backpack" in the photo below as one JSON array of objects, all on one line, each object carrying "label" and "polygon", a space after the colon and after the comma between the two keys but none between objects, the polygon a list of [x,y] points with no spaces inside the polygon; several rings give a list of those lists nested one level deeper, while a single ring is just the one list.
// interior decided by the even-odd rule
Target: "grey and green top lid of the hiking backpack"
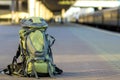
[{"label": "grey and green top lid of the hiking backpack", "polygon": [[46,23],[46,21],[41,17],[25,18],[20,21],[20,24],[23,27],[28,27],[28,28],[45,28],[46,29],[48,27],[48,24]]}]

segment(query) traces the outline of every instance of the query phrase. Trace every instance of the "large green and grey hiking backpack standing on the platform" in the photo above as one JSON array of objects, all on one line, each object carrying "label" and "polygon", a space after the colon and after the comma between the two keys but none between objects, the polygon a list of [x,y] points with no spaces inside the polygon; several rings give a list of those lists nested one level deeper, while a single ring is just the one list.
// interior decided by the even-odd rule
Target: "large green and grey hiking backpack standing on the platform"
[{"label": "large green and grey hiking backpack standing on the platform", "polygon": [[48,25],[44,19],[22,19],[21,25],[20,45],[12,64],[8,65],[9,74],[36,78],[61,74],[63,71],[53,63],[51,46],[55,38],[46,34]]}]

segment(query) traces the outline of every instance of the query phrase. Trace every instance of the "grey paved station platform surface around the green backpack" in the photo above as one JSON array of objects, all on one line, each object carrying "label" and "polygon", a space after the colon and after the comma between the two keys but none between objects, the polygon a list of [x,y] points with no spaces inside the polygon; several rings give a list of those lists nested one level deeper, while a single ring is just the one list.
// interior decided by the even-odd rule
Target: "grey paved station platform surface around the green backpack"
[{"label": "grey paved station platform surface around the green backpack", "polygon": [[[49,26],[47,33],[56,38],[54,61],[64,73],[41,80],[120,80],[120,33],[68,23]],[[15,55],[19,29],[0,25],[0,69]],[[38,79],[0,75],[0,80]]]}]

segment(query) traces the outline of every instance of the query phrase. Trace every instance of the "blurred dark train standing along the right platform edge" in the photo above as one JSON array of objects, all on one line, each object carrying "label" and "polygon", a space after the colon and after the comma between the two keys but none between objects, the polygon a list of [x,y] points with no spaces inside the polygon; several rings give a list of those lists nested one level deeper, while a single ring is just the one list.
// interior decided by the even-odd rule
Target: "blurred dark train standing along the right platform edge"
[{"label": "blurred dark train standing along the right platform edge", "polygon": [[79,23],[120,31],[120,7],[104,9],[79,17]]}]

